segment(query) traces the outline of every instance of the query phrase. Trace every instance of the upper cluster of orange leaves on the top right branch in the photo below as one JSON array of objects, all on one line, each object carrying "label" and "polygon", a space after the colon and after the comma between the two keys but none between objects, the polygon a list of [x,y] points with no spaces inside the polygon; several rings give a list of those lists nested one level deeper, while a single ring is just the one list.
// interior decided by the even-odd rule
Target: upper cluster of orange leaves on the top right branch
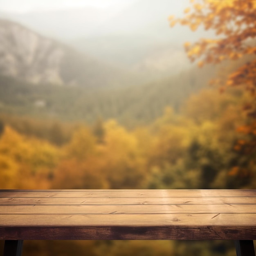
[{"label": "upper cluster of orange leaves on the top right branch", "polygon": [[[189,26],[192,31],[195,31],[200,24],[203,24],[205,29],[212,28],[216,31],[216,34],[225,35],[226,37],[219,40],[219,43],[209,41],[206,47],[201,45],[203,47],[202,52],[205,53],[206,58],[207,53],[211,52],[211,56],[214,56],[211,62],[219,63],[226,58],[236,60],[241,58],[243,54],[255,54],[255,47],[250,47],[246,52],[241,51],[242,41],[256,36],[256,19],[255,14],[253,15],[256,10],[252,10],[254,9],[254,4],[250,4],[252,9],[246,9],[248,7],[247,1],[206,0],[202,4],[193,2],[191,2],[191,7],[187,7],[184,10],[184,13],[190,14],[185,18],[172,19],[171,26],[173,27],[180,23],[181,25]],[[251,18],[251,16],[254,18]],[[252,26],[244,29],[245,32],[238,34],[238,27],[232,25],[234,22],[238,22],[238,27],[240,28],[245,24],[251,24]],[[209,49],[211,50],[209,51]],[[192,58],[193,54],[193,52],[190,52],[189,57]],[[195,55],[199,56],[198,51],[195,51]],[[210,61],[207,60],[206,62],[209,63]]]}]

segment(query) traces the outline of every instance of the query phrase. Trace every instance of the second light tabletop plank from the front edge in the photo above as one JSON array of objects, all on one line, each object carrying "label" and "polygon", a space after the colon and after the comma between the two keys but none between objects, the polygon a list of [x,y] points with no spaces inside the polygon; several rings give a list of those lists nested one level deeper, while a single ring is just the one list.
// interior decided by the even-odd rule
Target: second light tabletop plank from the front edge
[{"label": "second light tabletop plank from the front edge", "polygon": [[256,213],[254,204],[1,205],[0,214]]}]

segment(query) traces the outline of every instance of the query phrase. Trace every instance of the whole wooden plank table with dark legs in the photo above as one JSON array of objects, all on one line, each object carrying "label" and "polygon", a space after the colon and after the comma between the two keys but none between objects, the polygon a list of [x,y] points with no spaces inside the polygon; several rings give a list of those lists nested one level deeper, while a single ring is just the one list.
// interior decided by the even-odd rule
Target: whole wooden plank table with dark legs
[{"label": "whole wooden plank table with dark legs", "polygon": [[256,190],[0,190],[4,256],[23,240],[236,240],[255,256]]}]

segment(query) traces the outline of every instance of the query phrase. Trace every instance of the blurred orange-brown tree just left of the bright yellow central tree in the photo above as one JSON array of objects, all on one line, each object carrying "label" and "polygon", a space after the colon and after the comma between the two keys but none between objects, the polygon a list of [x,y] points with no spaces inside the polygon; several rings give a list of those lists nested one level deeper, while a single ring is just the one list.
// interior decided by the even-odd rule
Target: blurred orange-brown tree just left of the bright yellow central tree
[{"label": "blurred orange-brown tree just left of the bright yellow central tree", "polygon": [[54,189],[105,189],[107,182],[101,171],[96,138],[89,128],[80,127],[71,141],[63,147],[62,156],[54,171]]}]

